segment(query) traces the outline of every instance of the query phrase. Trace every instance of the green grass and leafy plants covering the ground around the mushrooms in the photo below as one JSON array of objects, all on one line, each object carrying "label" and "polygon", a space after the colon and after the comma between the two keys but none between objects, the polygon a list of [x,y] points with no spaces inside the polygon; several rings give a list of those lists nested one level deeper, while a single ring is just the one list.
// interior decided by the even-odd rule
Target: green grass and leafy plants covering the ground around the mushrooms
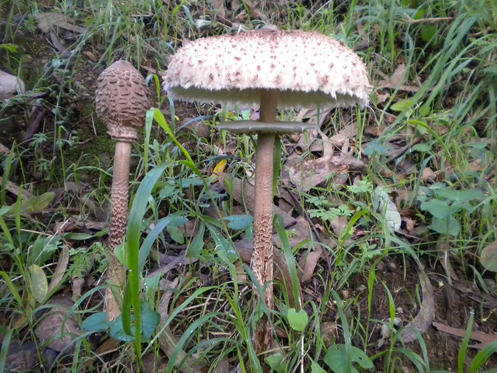
[{"label": "green grass and leafy plants covering the ground around the mushrooms", "polygon": [[[273,372],[365,372],[369,360],[376,371],[385,373],[402,372],[406,366],[413,372],[449,371],[430,355],[432,341],[424,335],[413,343],[415,349],[413,345],[395,343],[395,333],[382,349],[376,349],[379,325],[387,324],[388,317],[393,320],[401,315],[398,303],[407,300],[413,309],[418,309],[421,302],[418,286],[388,283],[378,266],[395,262],[401,268],[400,278],[407,281],[410,276],[417,278],[411,263],[421,259],[430,274],[441,260],[441,243],[447,243],[443,253],[460,271],[460,278],[477,283],[483,292],[495,297],[495,282],[488,281],[495,281],[495,274],[485,271],[478,256],[497,239],[493,172],[497,151],[496,5],[484,0],[355,0],[313,5],[282,1],[278,6],[266,3],[264,14],[279,28],[316,30],[355,48],[367,64],[373,85],[384,75],[392,76],[404,64],[402,85],[412,90],[375,87],[369,107],[332,110],[325,118],[321,129],[328,137],[344,124],[356,124],[357,135],[350,139],[349,149],[357,160],[367,160],[366,169],[349,172],[343,186],[330,181],[305,192],[277,186],[277,192],[288,189],[294,194],[311,223],[319,226],[321,236],[331,241],[323,246],[310,244],[311,249],[323,248],[324,254],[312,280],[300,284],[299,260],[311,249],[303,248],[303,243],[292,247],[288,241],[292,232],[279,226],[293,292],[288,292],[288,283],[275,281],[275,310],[269,311],[261,304],[253,313],[253,273],[247,264],[237,260],[234,249],[234,241],[251,237],[250,224],[244,226],[242,218],[234,218],[240,219],[236,221],[242,227],[232,228],[229,221],[219,219],[243,216],[247,207],[240,207],[229,193],[217,195],[211,178],[222,159],[227,161],[228,172],[249,178],[253,138],[215,130],[209,138],[197,138],[178,131],[180,124],[193,116],[199,116],[212,128],[219,117],[237,117],[238,113],[227,107],[192,105],[190,111],[178,103],[175,107],[161,92],[160,77],[152,74],[157,72],[154,69],[167,68],[183,40],[234,32],[238,25],[231,23],[230,17],[251,10],[242,2],[238,8],[227,6],[227,15],[216,18],[217,9],[209,1],[170,3],[0,1],[0,65],[23,79],[27,89],[0,104],[0,126],[16,121],[27,123],[36,105],[52,112],[44,131],[29,146],[14,143],[9,156],[0,154],[0,312],[5,320],[0,327],[0,371],[6,366],[9,345],[38,341],[34,330],[39,311],[52,294],[40,293],[32,280],[33,269],[41,269],[50,282],[56,275],[62,249],[68,249],[69,261],[54,291],[71,291],[73,275],[96,281],[84,289],[79,299],[74,299],[72,312],[83,322],[102,311],[98,293],[108,286],[102,282],[105,231],[96,233],[98,229],[85,224],[98,220],[90,212],[95,206],[105,216],[111,170],[110,157],[102,158],[102,153],[107,148],[111,153],[112,146],[93,112],[91,86],[92,79],[105,66],[120,58],[151,73],[148,81],[151,92],[156,94],[152,102],[167,112],[166,117],[159,110],[149,112],[143,139],[134,147],[136,169],[131,175],[131,215],[127,254],[123,258],[130,269],[123,324],[118,330],[102,320],[90,325],[93,329],[81,337],[74,357],[54,363],[53,372],[147,371],[144,362],[150,354],[157,361],[166,360],[166,372],[196,373],[200,369],[197,365],[214,372],[226,362],[230,367],[240,364],[242,372],[259,372],[251,333],[258,318],[268,312],[272,313],[279,342],[267,362]],[[85,28],[71,39],[61,39],[72,51],[70,57],[54,53],[39,37],[41,31],[31,15],[45,11],[63,14]],[[25,16],[20,23],[18,15]],[[195,22],[199,19],[212,20],[210,28],[197,29]],[[263,25],[258,19],[243,23],[248,29]],[[88,52],[96,56],[95,61],[88,58]],[[90,79],[85,81],[85,77]],[[44,94],[33,97],[40,92]],[[292,120],[297,114],[288,111],[281,116]],[[66,138],[65,132],[72,126],[78,129],[77,137]],[[93,130],[104,139],[102,142],[96,144]],[[79,144],[86,139],[92,139],[95,147],[88,149]],[[61,146],[63,143],[65,146]],[[409,143],[410,149],[389,159],[389,148]],[[59,146],[47,151],[52,144]],[[284,139],[283,171],[292,145],[288,138]],[[219,156],[218,149],[227,156]],[[312,155],[305,153],[303,158]],[[11,173],[11,165],[18,159]],[[407,172],[404,165],[411,165],[414,171]],[[439,180],[426,181],[426,169],[439,175]],[[43,175],[42,183],[32,182],[33,170]],[[30,194],[16,197],[6,191],[9,174]],[[81,194],[75,194],[72,183],[86,187]],[[422,232],[416,231],[418,240],[392,232],[388,219],[373,208],[377,186],[396,191],[397,207],[407,211],[418,226],[425,227]],[[38,214],[51,206],[50,195],[43,192],[52,188],[63,191],[57,211],[48,217]],[[474,198],[455,199],[461,190],[473,190]],[[47,199],[37,199],[40,195]],[[207,205],[211,206],[210,215]],[[450,213],[442,216],[441,209]],[[69,219],[75,228],[56,230],[56,224]],[[195,228],[185,227],[185,219]],[[189,262],[170,270],[162,280],[147,278],[155,269],[152,258],[164,254],[171,245],[184,250]],[[37,267],[30,267],[33,265]],[[440,267],[436,271],[446,276]],[[174,282],[175,279],[180,280]],[[363,290],[356,291],[360,284]],[[157,313],[164,307],[166,296],[167,318]],[[377,304],[379,298],[385,303]],[[292,299],[296,300],[293,307]],[[479,352],[468,348],[473,323],[484,324],[488,310],[480,307],[467,312],[460,326],[467,334],[460,342],[453,371],[492,372],[486,362],[496,343]],[[323,334],[324,322],[329,321],[337,325],[331,340]],[[140,324],[144,329],[137,333],[135,328]],[[96,357],[92,345],[97,343],[92,334],[95,330],[101,331],[98,338],[109,333],[122,340],[125,334],[138,338],[128,338],[118,345],[119,356]],[[39,343],[36,346],[40,357],[44,348]],[[336,352],[343,356],[343,370],[331,364]],[[366,353],[367,359],[360,352]]]}]

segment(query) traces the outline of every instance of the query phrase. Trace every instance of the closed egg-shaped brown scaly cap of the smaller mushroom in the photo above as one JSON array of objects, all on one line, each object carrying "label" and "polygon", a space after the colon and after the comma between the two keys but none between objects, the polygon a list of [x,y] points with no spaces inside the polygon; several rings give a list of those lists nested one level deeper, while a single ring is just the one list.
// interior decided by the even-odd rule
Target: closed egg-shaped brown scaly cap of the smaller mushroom
[{"label": "closed egg-shaped brown scaly cap of the smaller mushroom", "polygon": [[136,141],[150,108],[145,80],[127,61],[116,61],[97,79],[95,106],[116,141]]}]

